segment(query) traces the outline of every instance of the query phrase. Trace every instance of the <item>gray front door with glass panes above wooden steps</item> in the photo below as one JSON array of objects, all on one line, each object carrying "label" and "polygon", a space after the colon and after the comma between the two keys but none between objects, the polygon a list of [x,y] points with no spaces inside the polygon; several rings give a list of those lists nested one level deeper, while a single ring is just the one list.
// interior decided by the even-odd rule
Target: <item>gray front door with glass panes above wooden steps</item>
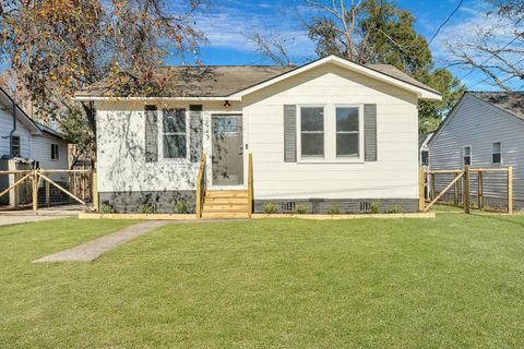
[{"label": "gray front door with glass panes above wooden steps", "polygon": [[243,184],[242,116],[213,116],[213,185]]}]

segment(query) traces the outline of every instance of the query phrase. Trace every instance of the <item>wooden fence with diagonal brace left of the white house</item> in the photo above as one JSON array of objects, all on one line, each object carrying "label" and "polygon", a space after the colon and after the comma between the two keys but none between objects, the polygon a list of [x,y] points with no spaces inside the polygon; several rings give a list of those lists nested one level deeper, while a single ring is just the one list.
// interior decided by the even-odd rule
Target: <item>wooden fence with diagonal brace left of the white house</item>
[{"label": "wooden fence with diagonal brace left of the white house", "polygon": [[93,203],[95,209],[98,206],[98,195],[94,190],[96,173],[92,170],[5,170],[0,171],[0,176],[10,177],[8,188],[0,191],[0,198],[10,195],[13,208],[31,204],[37,210],[39,206],[71,202],[86,206]]}]

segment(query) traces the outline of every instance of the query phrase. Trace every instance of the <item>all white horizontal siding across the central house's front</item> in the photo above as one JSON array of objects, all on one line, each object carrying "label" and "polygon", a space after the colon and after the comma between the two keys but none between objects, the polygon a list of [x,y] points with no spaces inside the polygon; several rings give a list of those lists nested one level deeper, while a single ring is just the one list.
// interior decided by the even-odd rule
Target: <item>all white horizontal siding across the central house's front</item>
[{"label": "all white horizontal siding across the central house's front", "polygon": [[[211,116],[243,113],[243,136],[253,154],[255,197],[263,198],[417,198],[417,98],[385,83],[335,67],[321,67],[233,103],[204,103],[204,152],[211,154]],[[194,103],[198,104],[198,103]],[[284,105],[377,104],[378,161],[365,164],[284,163]],[[187,107],[163,103],[158,108]],[[146,164],[144,106],[97,104],[98,190],[194,190],[199,164]],[[212,164],[207,158],[207,183]],[[247,172],[246,172],[247,173]],[[246,176],[247,177],[247,176]]]}]

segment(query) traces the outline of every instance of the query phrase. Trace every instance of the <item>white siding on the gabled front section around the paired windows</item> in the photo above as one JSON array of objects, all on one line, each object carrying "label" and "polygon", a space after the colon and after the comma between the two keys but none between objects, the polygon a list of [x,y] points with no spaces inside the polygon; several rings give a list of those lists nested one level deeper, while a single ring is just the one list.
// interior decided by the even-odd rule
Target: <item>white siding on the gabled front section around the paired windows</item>
[{"label": "white siding on the gabled front section around the paired windows", "polygon": [[[418,197],[416,103],[414,95],[336,67],[322,67],[248,96],[243,116],[255,197]],[[317,104],[377,104],[378,161],[284,163],[283,106]]]}]

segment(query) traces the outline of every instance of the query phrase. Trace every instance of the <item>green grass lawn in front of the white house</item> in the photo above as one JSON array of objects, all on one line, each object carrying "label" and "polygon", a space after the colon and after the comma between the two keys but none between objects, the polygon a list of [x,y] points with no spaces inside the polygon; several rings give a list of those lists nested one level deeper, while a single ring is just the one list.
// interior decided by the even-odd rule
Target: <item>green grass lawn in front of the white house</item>
[{"label": "green grass lawn in front of the white house", "polygon": [[0,347],[524,347],[524,216],[0,228]]}]

